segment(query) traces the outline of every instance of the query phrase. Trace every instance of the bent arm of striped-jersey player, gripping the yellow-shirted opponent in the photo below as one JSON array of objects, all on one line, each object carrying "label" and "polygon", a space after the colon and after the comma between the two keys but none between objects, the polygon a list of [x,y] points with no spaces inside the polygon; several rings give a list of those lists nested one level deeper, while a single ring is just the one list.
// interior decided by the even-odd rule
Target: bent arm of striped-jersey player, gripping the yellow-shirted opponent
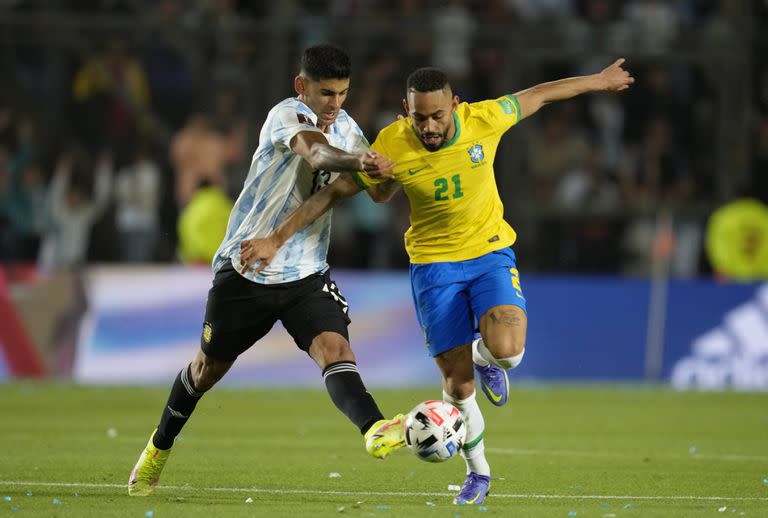
[{"label": "bent arm of striped-jersey player, gripping the yellow-shirted opponent", "polygon": [[392,168],[395,164],[387,157],[375,151],[347,153],[328,144],[322,133],[317,131],[297,133],[291,140],[291,149],[314,169],[338,173],[365,171],[371,178],[394,178]]}]

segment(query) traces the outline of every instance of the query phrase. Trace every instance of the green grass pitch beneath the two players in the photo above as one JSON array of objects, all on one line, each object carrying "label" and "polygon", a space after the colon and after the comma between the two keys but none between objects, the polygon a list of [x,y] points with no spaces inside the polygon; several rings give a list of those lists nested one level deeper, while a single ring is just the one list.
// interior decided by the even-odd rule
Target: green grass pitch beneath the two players
[{"label": "green grass pitch beneath the two players", "polygon": [[[440,396],[372,392],[385,414]],[[448,489],[461,459],[377,461],[321,390],[224,387],[201,401],[155,494],[129,498],[166,395],[0,385],[0,515],[768,516],[768,394],[526,385],[502,408],[481,394],[494,480],[482,507],[461,508]]]}]

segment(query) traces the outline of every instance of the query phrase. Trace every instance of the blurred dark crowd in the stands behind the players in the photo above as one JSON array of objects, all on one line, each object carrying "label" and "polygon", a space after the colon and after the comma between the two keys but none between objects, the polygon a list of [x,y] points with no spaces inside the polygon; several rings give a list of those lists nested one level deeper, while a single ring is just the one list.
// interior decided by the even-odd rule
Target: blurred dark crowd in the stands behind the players
[{"label": "blurred dark crowd in the stands behind the players", "polygon": [[[205,262],[267,111],[324,41],[352,56],[344,108],[370,141],[419,66],[479,101],[627,58],[629,91],[502,140],[526,272],[649,275],[663,255],[706,275],[713,211],[768,202],[763,0],[0,0],[0,262]],[[347,200],[329,262],[405,268],[407,227],[402,195]]]}]

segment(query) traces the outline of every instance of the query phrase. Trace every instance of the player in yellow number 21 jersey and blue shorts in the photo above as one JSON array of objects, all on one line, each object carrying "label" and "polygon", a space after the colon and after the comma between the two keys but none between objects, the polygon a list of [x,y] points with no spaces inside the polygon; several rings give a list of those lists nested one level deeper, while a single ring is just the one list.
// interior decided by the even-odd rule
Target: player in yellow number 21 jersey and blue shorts
[{"label": "player in yellow number 21 jersey and blue shorts", "polygon": [[525,352],[526,303],[511,248],[515,231],[503,219],[494,180],[499,140],[545,104],[629,88],[634,79],[623,62],[469,104],[453,95],[440,70],[416,70],[403,100],[408,117],[384,128],[372,145],[396,163],[394,180],[359,173],[355,186],[341,177],[306,200],[272,236],[242,245],[243,261],[261,260],[263,267],[292,232],[338,200],[377,185],[377,201],[386,201],[402,187],[411,207],[405,246],[416,315],[442,373],[443,400],[457,407],[467,424],[461,452],[467,479],[456,504],[480,504],[490,487],[475,372],[488,399],[503,405],[507,370],[517,367]]}]

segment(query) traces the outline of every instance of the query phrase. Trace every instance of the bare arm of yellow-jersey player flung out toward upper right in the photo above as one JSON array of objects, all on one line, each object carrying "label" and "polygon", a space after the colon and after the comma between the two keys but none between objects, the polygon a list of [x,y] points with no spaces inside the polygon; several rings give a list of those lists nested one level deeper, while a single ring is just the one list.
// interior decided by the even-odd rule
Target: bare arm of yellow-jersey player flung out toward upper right
[{"label": "bare arm of yellow-jersey player flung out toward upper right", "polygon": [[569,77],[549,83],[541,83],[521,92],[515,97],[520,104],[520,118],[533,115],[545,104],[564,101],[588,92],[621,92],[635,82],[635,78],[622,68],[624,58],[597,74]]}]

